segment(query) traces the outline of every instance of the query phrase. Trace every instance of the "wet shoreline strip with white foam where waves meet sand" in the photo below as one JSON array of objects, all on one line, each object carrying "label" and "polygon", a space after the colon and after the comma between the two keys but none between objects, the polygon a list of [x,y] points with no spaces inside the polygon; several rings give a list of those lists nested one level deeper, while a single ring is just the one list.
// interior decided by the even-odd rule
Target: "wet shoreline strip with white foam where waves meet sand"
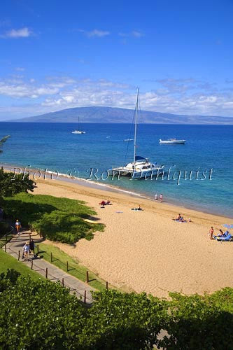
[{"label": "wet shoreline strip with white foam where waves meet sand", "polygon": [[[22,170],[22,173],[25,172],[25,174],[30,171],[34,176],[36,173],[41,172],[41,176],[43,176],[42,173],[45,173],[45,175],[48,175],[48,178],[45,177],[43,178],[43,180],[47,181],[47,180],[51,180],[51,181],[63,181],[65,183],[73,183],[73,184],[77,184],[83,187],[87,187],[87,188],[92,188],[92,189],[97,189],[97,190],[105,190],[106,193],[108,192],[112,192],[112,193],[122,193],[125,195],[129,195],[131,197],[136,197],[139,198],[139,200],[144,199],[144,200],[148,200],[150,202],[155,202],[155,200],[153,199],[153,196],[149,196],[146,195],[146,193],[136,193],[134,191],[130,191],[127,190],[125,188],[120,188],[118,186],[111,186],[110,184],[104,184],[104,183],[99,183],[98,181],[93,181],[90,179],[83,179],[80,177],[76,177],[76,176],[70,176],[67,174],[62,174],[56,171],[51,171],[48,169],[36,169],[36,168],[27,168],[27,166],[16,166],[16,165],[10,165],[10,164],[6,164],[6,163],[0,163],[0,166],[3,167],[3,169],[5,169],[6,171],[10,171],[10,169],[20,169],[20,172]],[[21,174],[22,174],[21,173]],[[17,173],[20,174],[20,173]],[[56,179],[51,179],[51,176],[56,176]],[[34,181],[38,181],[40,179],[34,179]],[[170,199],[169,199],[170,200]],[[159,202],[159,200],[157,201]],[[199,210],[198,207],[196,207],[195,205],[190,204],[190,206],[186,207],[185,205],[181,205],[180,203],[173,202],[173,200],[171,200],[171,202],[163,202],[166,203],[167,205],[171,206],[171,207],[179,207],[182,210],[190,210],[190,211],[198,211],[199,213],[203,213],[203,214],[209,214],[209,215],[213,215],[213,216],[219,216],[222,218],[227,218],[224,215],[218,214],[214,211],[205,211],[204,209]],[[211,205],[211,204],[210,204]],[[228,217],[228,219],[230,219],[230,217]]]}]

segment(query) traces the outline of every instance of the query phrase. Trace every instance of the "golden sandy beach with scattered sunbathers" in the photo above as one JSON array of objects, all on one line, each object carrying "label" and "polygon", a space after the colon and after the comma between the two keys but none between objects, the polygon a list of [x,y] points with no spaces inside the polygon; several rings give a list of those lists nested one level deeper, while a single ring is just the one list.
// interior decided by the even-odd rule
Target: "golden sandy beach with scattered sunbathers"
[{"label": "golden sandy beach with scattered sunbathers", "polygon": [[[169,291],[211,293],[233,286],[233,243],[208,238],[211,225],[217,232],[223,223],[232,223],[230,218],[64,181],[36,183],[34,194],[84,200],[97,212],[104,232],[72,246],[52,244],[113,286],[159,297]],[[113,205],[101,209],[101,200]],[[139,204],[143,211],[131,210]],[[178,213],[192,223],[172,221]]]}]

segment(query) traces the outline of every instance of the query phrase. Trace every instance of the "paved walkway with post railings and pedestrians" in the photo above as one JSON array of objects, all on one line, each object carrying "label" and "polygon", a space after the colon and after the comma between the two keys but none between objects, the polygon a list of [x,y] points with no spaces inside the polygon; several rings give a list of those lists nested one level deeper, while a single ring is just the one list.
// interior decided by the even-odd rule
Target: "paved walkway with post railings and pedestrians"
[{"label": "paved walkway with post railings and pedestrians", "polygon": [[[42,258],[33,258],[33,255],[29,255],[29,261],[22,260],[22,247],[26,241],[29,241],[29,235],[31,232],[24,231],[21,232],[20,236],[15,235],[9,242],[6,244],[6,252],[12,255],[14,258],[18,259],[18,254],[20,251],[20,262],[34,269],[42,276],[46,276],[46,268],[48,269],[48,279],[52,282],[64,281],[64,286],[70,288],[71,294],[75,293],[78,299],[86,302],[87,304],[92,304],[92,294],[91,290],[94,288],[90,287],[87,283],[76,279],[76,277],[67,274],[62,269],[59,269],[55,265],[50,264],[50,262],[43,260]],[[37,245],[42,239],[38,235],[31,234],[33,237],[35,245]],[[3,249],[5,249],[3,247]],[[32,260],[32,261],[31,261]]]}]

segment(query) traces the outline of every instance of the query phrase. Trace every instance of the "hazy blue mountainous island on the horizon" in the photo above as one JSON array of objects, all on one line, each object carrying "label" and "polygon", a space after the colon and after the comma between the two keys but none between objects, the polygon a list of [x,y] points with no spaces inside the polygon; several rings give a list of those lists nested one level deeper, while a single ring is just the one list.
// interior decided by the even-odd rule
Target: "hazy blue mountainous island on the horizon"
[{"label": "hazy blue mountainous island on the horizon", "polygon": [[[76,107],[41,116],[10,120],[17,123],[131,123],[134,110],[115,107]],[[233,117],[183,116],[171,113],[141,111],[139,123],[146,124],[209,124],[233,125]]]}]

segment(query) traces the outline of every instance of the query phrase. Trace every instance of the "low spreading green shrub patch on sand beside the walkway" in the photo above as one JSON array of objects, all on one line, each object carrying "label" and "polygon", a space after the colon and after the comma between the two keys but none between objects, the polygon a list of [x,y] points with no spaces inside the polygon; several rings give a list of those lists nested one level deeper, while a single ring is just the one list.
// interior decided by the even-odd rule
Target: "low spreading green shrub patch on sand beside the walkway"
[{"label": "low spreading green shrub patch on sand beside the walkway", "polygon": [[3,208],[8,218],[18,218],[24,227],[52,241],[72,244],[81,238],[92,239],[93,232],[104,230],[104,225],[84,220],[96,213],[79,200],[19,193],[5,198]]}]

